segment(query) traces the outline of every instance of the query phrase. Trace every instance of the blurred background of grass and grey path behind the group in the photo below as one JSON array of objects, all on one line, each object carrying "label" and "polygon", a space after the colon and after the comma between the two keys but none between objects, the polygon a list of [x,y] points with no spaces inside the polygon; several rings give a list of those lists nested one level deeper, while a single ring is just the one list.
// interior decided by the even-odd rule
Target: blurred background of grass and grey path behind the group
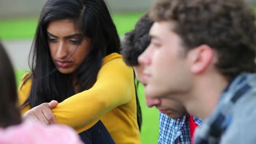
[{"label": "blurred background of grass and grey path behind the group", "polygon": [[[134,28],[135,23],[156,0],[105,0],[120,38]],[[224,1],[224,0],[223,0]],[[246,0],[255,9],[256,0]],[[15,67],[17,83],[28,68],[28,54],[34,37],[40,11],[46,0],[1,0],[0,39]],[[256,9],[255,9],[256,11]],[[142,143],[157,143],[159,135],[158,110],[144,103],[142,85],[138,89],[142,106]]]}]

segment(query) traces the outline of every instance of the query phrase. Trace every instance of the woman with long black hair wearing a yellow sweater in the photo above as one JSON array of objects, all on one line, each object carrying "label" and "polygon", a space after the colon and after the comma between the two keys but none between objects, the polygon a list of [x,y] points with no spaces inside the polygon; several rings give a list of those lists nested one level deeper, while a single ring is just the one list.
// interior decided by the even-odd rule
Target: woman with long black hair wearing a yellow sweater
[{"label": "woman with long black hair wearing a yellow sweater", "polygon": [[116,143],[140,143],[133,71],[119,51],[103,0],[46,2],[19,87],[23,117],[50,123],[42,104],[57,100],[57,123],[82,133],[101,119]]}]

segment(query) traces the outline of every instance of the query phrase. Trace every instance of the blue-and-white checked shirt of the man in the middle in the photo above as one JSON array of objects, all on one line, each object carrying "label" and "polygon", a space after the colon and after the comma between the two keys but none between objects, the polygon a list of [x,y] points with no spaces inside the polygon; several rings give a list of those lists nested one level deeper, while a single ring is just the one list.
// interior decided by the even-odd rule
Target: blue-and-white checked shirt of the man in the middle
[{"label": "blue-and-white checked shirt of the man in the middle", "polygon": [[[199,118],[193,119],[196,124],[201,125]],[[159,112],[159,128],[158,144],[190,144],[189,115],[172,119]]]}]

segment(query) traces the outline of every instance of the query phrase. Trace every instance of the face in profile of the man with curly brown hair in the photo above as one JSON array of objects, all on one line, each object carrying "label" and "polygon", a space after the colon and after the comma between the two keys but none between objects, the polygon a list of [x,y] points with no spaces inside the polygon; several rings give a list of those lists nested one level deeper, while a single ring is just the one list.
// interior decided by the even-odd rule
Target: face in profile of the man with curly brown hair
[{"label": "face in profile of the man with curly brown hair", "polygon": [[181,38],[172,31],[174,22],[155,22],[150,29],[150,45],[139,56],[144,65],[145,94],[149,98],[172,99],[191,87],[191,73]]}]

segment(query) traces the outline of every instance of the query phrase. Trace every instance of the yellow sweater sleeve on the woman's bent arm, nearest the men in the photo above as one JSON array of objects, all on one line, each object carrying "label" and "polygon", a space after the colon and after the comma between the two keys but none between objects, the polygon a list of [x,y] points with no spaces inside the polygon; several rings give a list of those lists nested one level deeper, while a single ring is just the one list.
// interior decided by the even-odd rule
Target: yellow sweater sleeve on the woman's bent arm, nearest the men
[{"label": "yellow sweater sleeve on the woman's bent arm, nearest the men", "polygon": [[62,101],[53,113],[58,123],[80,133],[110,110],[129,102],[133,89],[132,68],[121,58],[113,59],[103,65],[92,88]]}]

